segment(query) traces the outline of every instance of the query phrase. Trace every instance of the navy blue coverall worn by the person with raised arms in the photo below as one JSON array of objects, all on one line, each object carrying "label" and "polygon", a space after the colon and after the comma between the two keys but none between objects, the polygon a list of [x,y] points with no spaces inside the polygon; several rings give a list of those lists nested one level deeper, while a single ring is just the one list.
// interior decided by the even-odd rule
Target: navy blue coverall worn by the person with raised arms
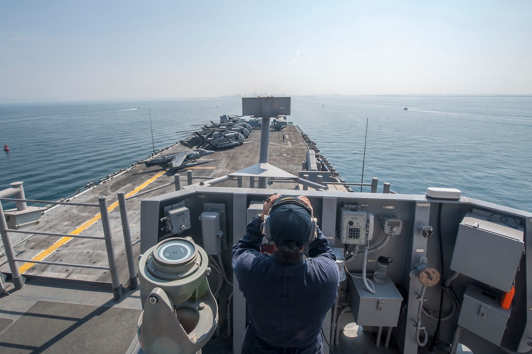
[{"label": "navy blue coverall worn by the person with raised arms", "polygon": [[321,325],[338,289],[336,257],[321,230],[309,245],[310,258],[261,254],[261,223],[255,216],[232,251],[250,315],[242,353],[321,353]]}]

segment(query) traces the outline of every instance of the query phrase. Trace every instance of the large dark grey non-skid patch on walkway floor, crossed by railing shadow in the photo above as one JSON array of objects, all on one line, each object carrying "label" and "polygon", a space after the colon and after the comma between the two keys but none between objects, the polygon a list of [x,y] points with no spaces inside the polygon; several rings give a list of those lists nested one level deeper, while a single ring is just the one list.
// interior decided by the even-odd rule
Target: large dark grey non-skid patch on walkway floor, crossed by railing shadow
[{"label": "large dark grey non-skid patch on walkway floor, crossed by railing shadow", "polygon": [[[126,352],[140,310],[38,301],[0,334],[8,353]],[[39,328],[38,331],[35,331]]]}]

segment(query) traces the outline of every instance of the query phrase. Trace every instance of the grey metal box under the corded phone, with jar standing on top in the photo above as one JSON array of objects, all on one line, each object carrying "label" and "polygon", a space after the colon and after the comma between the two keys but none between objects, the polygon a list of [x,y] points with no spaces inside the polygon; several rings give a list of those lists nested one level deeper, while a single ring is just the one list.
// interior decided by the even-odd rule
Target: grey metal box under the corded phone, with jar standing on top
[{"label": "grey metal box under the corded phone, with jar standing on top", "polygon": [[[356,324],[360,326],[395,327],[401,311],[403,297],[388,278],[385,284],[371,282],[375,294],[370,293],[362,282],[362,274],[348,275],[350,278],[349,306]],[[370,284],[371,287],[371,284]]]}]

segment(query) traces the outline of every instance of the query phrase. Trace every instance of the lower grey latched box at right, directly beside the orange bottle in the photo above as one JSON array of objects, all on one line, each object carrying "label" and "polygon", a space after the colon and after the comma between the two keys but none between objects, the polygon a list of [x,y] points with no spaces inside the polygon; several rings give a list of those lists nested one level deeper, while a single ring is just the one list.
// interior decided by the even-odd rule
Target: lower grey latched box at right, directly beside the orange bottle
[{"label": "lower grey latched box at right, directly beside the orange bottle", "polygon": [[500,345],[510,309],[499,305],[499,298],[469,284],[465,289],[458,324],[484,339]]}]

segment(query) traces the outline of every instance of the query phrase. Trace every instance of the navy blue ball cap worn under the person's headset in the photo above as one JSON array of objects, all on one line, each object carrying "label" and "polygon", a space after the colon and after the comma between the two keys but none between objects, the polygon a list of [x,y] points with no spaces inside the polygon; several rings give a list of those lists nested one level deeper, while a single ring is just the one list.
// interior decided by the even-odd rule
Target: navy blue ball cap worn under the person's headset
[{"label": "navy blue ball cap worn under the person's headset", "polygon": [[309,238],[312,219],[310,208],[293,196],[281,196],[272,205],[268,219],[273,242],[295,241],[302,248]]}]

